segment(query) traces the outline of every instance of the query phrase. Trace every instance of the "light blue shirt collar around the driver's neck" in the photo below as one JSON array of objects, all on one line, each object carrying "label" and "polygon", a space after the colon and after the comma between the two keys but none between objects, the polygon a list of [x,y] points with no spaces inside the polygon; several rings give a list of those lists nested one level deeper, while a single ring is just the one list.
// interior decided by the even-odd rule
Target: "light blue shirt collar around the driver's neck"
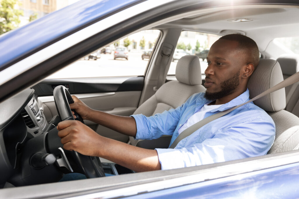
[{"label": "light blue shirt collar around the driver's neck", "polygon": [[[243,104],[244,102],[249,100],[249,90],[248,88],[246,89],[245,92],[243,92],[241,95],[239,95],[238,97],[232,99],[231,101],[229,101],[226,104],[223,104],[222,106],[211,110],[210,112],[216,112],[216,111],[224,111],[227,109],[230,109],[232,107],[235,107],[239,104]],[[204,95],[200,96],[199,98],[196,99],[196,105],[201,105],[203,106],[204,104],[207,103],[211,103],[212,101],[207,100]]]}]

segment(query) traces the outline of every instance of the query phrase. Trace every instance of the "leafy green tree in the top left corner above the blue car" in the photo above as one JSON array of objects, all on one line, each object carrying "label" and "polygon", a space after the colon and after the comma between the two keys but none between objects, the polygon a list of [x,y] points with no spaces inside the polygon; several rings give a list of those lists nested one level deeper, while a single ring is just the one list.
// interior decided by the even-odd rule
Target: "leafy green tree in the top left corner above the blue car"
[{"label": "leafy green tree in the top left corner above the blue car", "polygon": [[0,35],[19,26],[19,16],[23,15],[23,11],[14,8],[17,2],[18,0],[0,1]]}]

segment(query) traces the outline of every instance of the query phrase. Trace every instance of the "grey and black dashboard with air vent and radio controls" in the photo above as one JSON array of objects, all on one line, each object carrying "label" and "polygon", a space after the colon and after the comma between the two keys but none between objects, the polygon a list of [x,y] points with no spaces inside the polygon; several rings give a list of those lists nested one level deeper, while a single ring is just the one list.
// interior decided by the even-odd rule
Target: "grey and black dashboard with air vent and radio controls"
[{"label": "grey and black dashboard with air vent and radio controls", "polygon": [[[0,187],[3,187],[13,175],[24,178],[22,163],[28,161],[22,155],[24,148],[30,139],[48,130],[48,122],[33,89],[0,103],[0,112]],[[27,175],[30,174],[28,170]]]}]

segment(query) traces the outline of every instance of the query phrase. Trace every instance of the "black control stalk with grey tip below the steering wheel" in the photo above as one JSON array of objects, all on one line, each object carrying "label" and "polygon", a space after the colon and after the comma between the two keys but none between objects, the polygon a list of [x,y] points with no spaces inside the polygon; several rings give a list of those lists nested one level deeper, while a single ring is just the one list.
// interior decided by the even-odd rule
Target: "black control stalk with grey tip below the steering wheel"
[{"label": "black control stalk with grey tip below the steering wheel", "polygon": [[36,153],[30,159],[30,165],[35,169],[54,164],[56,157],[49,153]]}]

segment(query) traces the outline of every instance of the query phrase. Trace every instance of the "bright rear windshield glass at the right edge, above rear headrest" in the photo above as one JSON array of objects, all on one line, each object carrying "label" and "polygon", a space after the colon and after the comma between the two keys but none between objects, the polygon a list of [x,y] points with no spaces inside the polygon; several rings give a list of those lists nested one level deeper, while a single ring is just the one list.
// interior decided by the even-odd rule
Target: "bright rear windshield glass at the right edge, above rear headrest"
[{"label": "bright rear windshield glass at the right edge, above rear headrest", "polygon": [[282,37],[275,38],[274,43],[289,53],[299,54],[299,37]]}]

